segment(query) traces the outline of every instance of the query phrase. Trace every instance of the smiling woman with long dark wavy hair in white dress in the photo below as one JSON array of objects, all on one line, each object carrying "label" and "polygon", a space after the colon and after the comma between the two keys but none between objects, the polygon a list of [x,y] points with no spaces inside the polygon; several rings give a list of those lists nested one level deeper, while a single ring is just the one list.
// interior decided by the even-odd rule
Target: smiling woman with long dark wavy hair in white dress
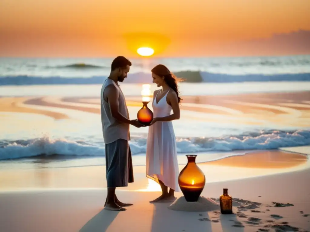
[{"label": "smiling woman with long dark wavy hair in white dress", "polygon": [[146,176],[160,184],[162,195],[150,203],[173,201],[174,192],[180,191],[175,133],[171,121],[180,118],[179,103],[182,100],[177,80],[166,66],[155,66],[152,77],[153,83],[162,89],[154,91],[153,96],[154,118],[148,129]]}]

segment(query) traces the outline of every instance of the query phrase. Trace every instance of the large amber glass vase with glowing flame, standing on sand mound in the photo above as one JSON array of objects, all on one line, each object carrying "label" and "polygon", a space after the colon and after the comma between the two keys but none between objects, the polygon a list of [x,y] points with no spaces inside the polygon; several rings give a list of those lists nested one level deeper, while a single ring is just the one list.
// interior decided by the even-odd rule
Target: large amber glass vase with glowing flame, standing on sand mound
[{"label": "large amber glass vase with glowing flame, standing on sand mound", "polygon": [[179,174],[179,186],[189,202],[197,201],[203,188],[205,187],[205,174],[196,164],[197,155],[186,155],[187,165]]}]

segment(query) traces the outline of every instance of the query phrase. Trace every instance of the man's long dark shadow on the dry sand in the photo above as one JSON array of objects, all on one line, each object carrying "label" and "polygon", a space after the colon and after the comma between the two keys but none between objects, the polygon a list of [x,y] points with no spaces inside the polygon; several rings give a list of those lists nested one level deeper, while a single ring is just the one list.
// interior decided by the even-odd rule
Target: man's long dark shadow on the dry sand
[{"label": "man's long dark shadow on the dry sand", "polygon": [[95,217],[91,218],[79,232],[103,232],[108,229],[119,211],[102,209]]}]

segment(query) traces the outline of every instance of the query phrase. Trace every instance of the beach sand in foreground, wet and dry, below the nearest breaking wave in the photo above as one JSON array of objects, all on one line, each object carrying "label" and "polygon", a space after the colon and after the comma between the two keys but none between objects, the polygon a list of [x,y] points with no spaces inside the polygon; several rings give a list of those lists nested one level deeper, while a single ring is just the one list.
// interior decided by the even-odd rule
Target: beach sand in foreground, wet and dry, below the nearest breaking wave
[{"label": "beach sand in foreground, wet and dry, below the nearest breaking wave", "polygon": [[[198,164],[206,175],[201,196],[217,201],[228,188],[234,198],[232,215],[221,215],[219,207],[182,212],[168,209],[171,203],[150,204],[159,186],[145,178],[145,166],[135,166],[135,183],[117,190],[120,200],[134,204],[125,212],[103,209],[103,166],[47,168],[41,174],[1,171],[0,231],[309,231],[309,150],[300,154],[296,152],[306,149],[292,149],[295,153],[286,148],[285,153],[265,151]],[[13,185],[6,188],[9,183]]]}]

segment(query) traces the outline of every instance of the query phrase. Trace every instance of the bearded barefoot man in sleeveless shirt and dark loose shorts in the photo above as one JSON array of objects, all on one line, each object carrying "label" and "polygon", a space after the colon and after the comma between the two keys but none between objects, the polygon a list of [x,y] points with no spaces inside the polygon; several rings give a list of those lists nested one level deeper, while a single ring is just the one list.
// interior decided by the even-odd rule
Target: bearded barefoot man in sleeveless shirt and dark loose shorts
[{"label": "bearded barefoot man in sleeveless shirt and dark loose shorts", "polygon": [[104,208],[125,211],[132,204],[120,202],[115,195],[116,187],[127,187],[134,182],[129,125],[141,127],[138,120],[129,120],[125,97],[118,85],[129,72],[131,62],[123,56],[116,57],[111,72],[101,88],[101,122],[105,143],[105,164],[108,195]]}]

